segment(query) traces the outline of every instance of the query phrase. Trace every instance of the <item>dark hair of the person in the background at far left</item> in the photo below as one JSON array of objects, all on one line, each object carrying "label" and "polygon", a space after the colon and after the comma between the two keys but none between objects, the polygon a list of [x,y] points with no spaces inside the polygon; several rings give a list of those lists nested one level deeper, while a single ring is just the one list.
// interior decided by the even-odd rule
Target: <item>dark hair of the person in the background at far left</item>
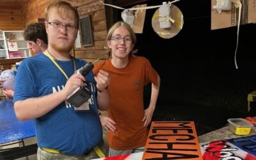
[{"label": "dark hair of the person in the background at far left", "polygon": [[31,23],[24,30],[24,39],[36,42],[37,38],[48,44],[47,33],[44,24]]}]

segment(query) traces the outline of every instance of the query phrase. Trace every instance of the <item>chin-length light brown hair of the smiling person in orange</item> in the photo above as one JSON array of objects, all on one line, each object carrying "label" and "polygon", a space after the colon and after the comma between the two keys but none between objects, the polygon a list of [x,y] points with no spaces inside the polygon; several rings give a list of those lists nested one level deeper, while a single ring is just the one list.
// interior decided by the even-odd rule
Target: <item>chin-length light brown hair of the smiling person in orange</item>
[{"label": "chin-length light brown hair of the smiling person in orange", "polygon": [[[107,40],[106,40],[106,49],[108,50],[108,52],[110,52],[110,49],[108,47],[108,40],[111,40],[114,31],[116,30],[116,28],[118,28],[120,26],[126,28],[129,31],[131,38],[132,38],[133,45],[136,44],[136,42],[137,42],[136,35],[129,24],[127,24],[126,22],[123,22],[123,21],[116,22],[115,24],[113,24],[113,26],[108,31]],[[132,50],[131,52],[136,53],[137,51],[138,50],[135,49],[135,50]]]}]

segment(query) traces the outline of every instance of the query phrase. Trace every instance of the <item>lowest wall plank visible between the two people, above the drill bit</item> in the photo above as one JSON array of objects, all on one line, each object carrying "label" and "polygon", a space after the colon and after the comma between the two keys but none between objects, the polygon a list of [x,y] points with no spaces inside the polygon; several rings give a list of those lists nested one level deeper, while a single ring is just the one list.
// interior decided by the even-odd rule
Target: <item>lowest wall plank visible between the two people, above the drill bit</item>
[{"label": "lowest wall plank visible between the two people, above the drill bit", "polygon": [[103,59],[106,60],[109,58],[108,52],[106,50],[95,50],[95,51],[76,51],[76,58],[83,58],[83,59]]}]

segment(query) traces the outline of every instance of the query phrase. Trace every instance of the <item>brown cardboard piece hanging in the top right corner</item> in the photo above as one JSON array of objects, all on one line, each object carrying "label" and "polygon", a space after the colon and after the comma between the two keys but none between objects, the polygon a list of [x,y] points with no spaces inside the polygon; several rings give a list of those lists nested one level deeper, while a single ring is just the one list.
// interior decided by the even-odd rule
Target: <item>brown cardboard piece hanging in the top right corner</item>
[{"label": "brown cardboard piece hanging in the top right corner", "polygon": [[[256,23],[256,0],[241,0],[241,23],[250,24]],[[211,0],[211,29],[228,28],[237,26],[239,17],[239,8],[236,8],[232,3],[232,8],[229,11],[218,13],[213,9],[216,5],[216,0]]]}]

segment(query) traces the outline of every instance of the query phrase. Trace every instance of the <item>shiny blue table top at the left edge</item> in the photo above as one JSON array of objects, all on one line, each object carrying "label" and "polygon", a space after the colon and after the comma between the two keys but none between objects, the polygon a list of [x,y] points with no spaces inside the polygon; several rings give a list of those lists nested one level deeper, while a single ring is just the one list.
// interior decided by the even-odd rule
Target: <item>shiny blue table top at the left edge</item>
[{"label": "shiny blue table top at the left edge", "polygon": [[0,144],[35,136],[32,120],[17,119],[12,99],[0,100]]}]

